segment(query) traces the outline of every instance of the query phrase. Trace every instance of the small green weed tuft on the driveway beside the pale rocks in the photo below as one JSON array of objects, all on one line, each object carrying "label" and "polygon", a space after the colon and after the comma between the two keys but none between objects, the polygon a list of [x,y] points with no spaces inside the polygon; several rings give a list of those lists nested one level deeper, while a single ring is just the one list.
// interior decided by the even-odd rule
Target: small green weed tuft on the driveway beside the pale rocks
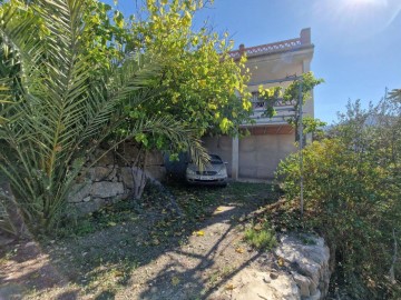
[{"label": "small green weed tuft on the driveway beside the pale rocks", "polygon": [[246,229],[245,241],[252,247],[263,250],[270,250],[277,244],[275,232],[267,221]]}]

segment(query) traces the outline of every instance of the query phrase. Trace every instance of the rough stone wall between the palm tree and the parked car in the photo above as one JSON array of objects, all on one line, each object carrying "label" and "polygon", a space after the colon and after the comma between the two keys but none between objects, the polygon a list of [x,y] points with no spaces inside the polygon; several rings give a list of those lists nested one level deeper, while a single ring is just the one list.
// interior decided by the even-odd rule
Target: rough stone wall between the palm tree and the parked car
[{"label": "rough stone wall between the palm tree and the parked car", "polygon": [[[133,168],[138,150],[131,144],[124,144],[116,152],[107,152],[72,187],[67,200],[78,214],[89,213],[108,203],[128,198],[134,189]],[[101,156],[99,150],[97,156]],[[165,177],[163,156],[151,151],[147,156],[146,177],[162,180]]]}]

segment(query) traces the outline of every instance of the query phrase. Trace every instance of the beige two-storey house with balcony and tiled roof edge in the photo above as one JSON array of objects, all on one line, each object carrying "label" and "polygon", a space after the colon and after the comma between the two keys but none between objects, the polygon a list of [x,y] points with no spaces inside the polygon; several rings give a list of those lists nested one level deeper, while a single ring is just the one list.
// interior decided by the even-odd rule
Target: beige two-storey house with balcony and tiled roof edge
[{"label": "beige two-storey house with balcony and tiled roof edge", "polygon": [[[253,94],[253,116],[255,123],[244,123],[251,134],[238,139],[229,137],[204,138],[209,152],[219,154],[228,162],[227,171],[233,179],[270,179],[282,159],[296,150],[295,130],[286,119],[294,113],[294,106],[276,102],[277,114],[263,117],[264,102],[257,97],[258,87],[286,87],[283,81],[291,76],[300,76],[311,70],[314,46],[311,43],[311,29],[303,29],[299,38],[232,51],[234,59],[246,53],[246,67],[251,70],[248,89]],[[303,116],[314,116],[313,97],[303,107]]]}]

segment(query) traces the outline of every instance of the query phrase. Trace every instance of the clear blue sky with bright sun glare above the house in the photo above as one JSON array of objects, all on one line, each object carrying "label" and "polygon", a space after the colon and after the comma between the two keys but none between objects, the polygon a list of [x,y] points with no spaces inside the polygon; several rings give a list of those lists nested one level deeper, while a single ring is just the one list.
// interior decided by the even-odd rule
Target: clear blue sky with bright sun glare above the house
[{"label": "clear blue sky with bright sun glare above the house", "polygon": [[[135,0],[119,0],[128,14]],[[253,47],[297,38],[311,28],[315,117],[332,123],[349,100],[378,102],[401,88],[401,0],[215,0],[196,16],[217,32]]]}]

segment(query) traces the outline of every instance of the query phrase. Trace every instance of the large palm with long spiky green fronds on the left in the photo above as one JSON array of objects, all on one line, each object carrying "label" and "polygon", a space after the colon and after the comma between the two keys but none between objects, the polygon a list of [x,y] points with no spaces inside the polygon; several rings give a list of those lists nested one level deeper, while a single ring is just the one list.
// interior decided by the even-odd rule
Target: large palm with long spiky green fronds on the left
[{"label": "large palm with long spiky green fronds on the left", "polygon": [[[91,78],[90,56],[82,44],[82,0],[11,1],[0,8],[2,98],[12,103],[0,113],[0,170],[31,229],[48,230],[65,212],[66,197],[86,158],[121,122],[121,103],[150,99],[151,82],[162,62],[144,53],[115,63]],[[3,56],[4,58],[4,56]],[[4,76],[4,70],[16,70]],[[173,143],[185,143],[197,161],[206,154],[193,131],[167,117],[134,123],[116,144],[138,132],[163,132]]]}]

